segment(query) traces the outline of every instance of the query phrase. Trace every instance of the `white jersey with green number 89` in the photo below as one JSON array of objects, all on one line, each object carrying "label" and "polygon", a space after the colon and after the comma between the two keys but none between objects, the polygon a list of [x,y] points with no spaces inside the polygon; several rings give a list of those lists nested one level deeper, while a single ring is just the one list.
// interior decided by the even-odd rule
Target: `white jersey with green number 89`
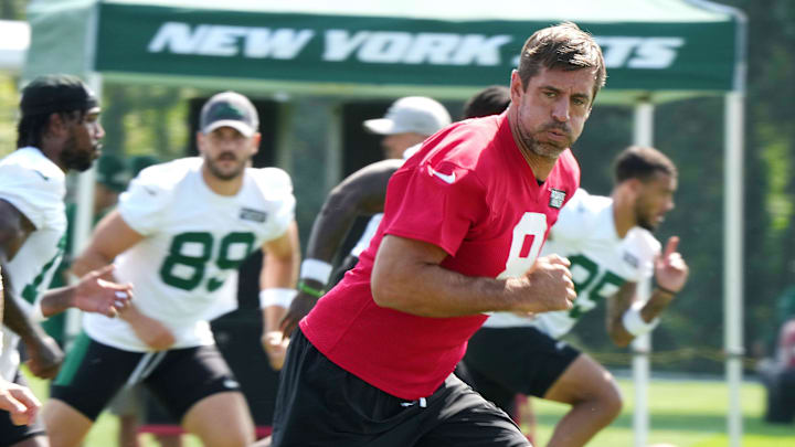
[{"label": "white jersey with green number 89", "polygon": [[[212,344],[208,319],[219,301],[234,306],[240,264],[294,220],[289,175],[277,168],[247,168],[236,195],[215,194],[202,178],[202,159],[149,167],[119,198],[118,211],[145,238],[115,260],[120,283],[135,287],[139,310],[173,333],[172,348]],[[86,313],[94,340],[128,351],[149,348],[131,327]]]}]

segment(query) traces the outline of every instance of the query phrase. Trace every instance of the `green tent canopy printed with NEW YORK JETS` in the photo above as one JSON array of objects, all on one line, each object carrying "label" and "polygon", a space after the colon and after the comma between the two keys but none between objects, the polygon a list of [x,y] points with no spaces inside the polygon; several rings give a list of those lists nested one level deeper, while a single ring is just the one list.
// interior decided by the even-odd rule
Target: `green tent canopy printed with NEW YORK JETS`
[{"label": "green tent canopy printed with NEW YORK JETS", "polygon": [[602,102],[736,89],[741,23],[702,1],[34,1],[26,73],[292,94],[464,98],[502,84],[537,29],[572,20],[604,50]]}]

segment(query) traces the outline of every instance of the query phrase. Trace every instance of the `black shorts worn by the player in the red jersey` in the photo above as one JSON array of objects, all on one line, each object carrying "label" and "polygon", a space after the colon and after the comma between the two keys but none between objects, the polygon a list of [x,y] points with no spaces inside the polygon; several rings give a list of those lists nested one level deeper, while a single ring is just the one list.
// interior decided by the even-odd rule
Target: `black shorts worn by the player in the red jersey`
[{"label": "black shorts worn by the player in the red jersey", "polygon": [[333,364],[296,330],[279,379],[273,447],[530,446],[505,412],[451,374],[406,402]]}]

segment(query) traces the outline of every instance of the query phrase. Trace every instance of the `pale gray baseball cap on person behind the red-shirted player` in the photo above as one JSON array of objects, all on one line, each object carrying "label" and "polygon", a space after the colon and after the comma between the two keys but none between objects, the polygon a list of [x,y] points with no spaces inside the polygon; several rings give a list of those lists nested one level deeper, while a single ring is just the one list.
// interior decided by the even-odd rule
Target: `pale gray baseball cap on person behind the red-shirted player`
[{"label": "pale gray baseball cap on person behind the red-shirted player", "polygon": [[392,103],[383,118],[368,119],[364,128],[373,134],[393,135],[415,132],[433,135],[449,126],[447,109],[425,96],[406,96]]}]

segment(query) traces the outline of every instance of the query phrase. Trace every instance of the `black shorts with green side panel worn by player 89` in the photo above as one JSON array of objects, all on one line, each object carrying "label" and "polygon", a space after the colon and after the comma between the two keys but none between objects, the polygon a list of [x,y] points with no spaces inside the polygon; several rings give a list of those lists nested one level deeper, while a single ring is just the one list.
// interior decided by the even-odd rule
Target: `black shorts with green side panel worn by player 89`
[{"label": "black shorts with green side panel worn by player 89", "polygon": [[240,391],[215,345],[131,352],[81,333],[53,381],[50,396],[95,421],[124,386],[142,383],[177,421],[215,393]]}]

